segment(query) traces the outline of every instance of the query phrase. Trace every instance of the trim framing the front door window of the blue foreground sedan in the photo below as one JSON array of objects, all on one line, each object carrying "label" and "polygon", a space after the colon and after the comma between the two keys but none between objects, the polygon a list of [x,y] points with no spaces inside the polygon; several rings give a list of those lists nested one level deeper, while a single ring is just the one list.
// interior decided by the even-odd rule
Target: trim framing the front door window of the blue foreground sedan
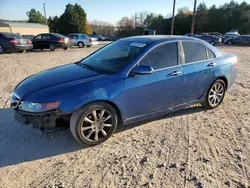
[{"label": "trim framing the front door window of the blue foreground sedan", "polygon": [[175,66],[171,66],[171,67],[165,67],[165,68],[161,68],[161,69],[157,69],[157,70],[153,70],[153,73],[154,72],[158,72],[158,71],[162,71],[162,70],[166,70],[166,69],[169,69],[169,68],[173,68],[173,67],[179,67],[182,65],[182,63],[180,62],[180,54],[179,54],[179,42],[180,40],[176,40],[176,41],[165,41],[165,42],[162,42],[162,43],[159,43],[157,45],[155,45],[153,48],[150,49],[150,51],[148,51],[146,54],[144,54],[138,61],[137,63],[128,71],[128,73],[126,74],[125,78],[127,78],[131,71],[140,63],[140,61],[146,56],[148,55],[152,50],[154,50],[155,48],[157,48],[158,46],[160,45],[163,45],[163,44],[167,44],[167,43],[177,43],[177,54],[178,54],[178,58],[177,58],[177,65]]}]

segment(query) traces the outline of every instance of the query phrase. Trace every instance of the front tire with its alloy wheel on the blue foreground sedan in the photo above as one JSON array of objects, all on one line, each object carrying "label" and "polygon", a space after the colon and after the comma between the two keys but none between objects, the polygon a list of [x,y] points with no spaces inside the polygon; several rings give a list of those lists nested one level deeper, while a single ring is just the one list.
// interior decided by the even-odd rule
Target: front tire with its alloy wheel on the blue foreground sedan
[{"label": "front tire with its alloy wheel on the blue foreground sedan", "polygon": [[73,112],[70,131],[79,143],[94,146],[106,141],[117,124],[115,109],[105,102],[95,102]]}]

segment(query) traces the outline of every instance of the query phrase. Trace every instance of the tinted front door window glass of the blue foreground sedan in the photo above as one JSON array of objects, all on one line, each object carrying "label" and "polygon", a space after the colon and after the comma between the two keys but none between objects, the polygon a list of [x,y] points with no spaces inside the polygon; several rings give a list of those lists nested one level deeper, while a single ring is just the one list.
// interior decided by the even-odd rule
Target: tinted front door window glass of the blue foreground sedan
[{"label": "tinted front door window glass of the blue foreground sedan", "polygon": [[176,42],[162,44],[150,51],[140,62],[154,70],[178,65],[178,47]]}]

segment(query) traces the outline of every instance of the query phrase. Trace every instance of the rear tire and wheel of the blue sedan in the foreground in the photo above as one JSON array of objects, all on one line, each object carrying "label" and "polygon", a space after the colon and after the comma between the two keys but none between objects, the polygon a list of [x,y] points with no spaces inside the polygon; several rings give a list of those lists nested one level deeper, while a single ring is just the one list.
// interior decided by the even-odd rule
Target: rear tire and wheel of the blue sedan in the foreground
[{"label": "rear tire and wheel of the blue sedan in the foreground", "polygon": [[223,80],[216,80],[208,89],[205,101],[201,105],[208,109],[217,108],[223,101],[226,93],[226,84]]}]

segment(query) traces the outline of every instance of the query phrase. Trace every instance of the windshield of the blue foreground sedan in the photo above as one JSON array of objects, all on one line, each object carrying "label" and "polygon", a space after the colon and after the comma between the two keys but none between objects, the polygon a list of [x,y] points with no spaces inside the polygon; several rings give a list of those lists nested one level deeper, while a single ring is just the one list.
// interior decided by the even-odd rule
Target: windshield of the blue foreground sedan
[{"label": "windshield of the blue foreground sedan", "polygon": [[104,74],[121,71],[146,47],[144,43],[131,41],[113,42],[80,62],[80,65],[92,67]]}]

